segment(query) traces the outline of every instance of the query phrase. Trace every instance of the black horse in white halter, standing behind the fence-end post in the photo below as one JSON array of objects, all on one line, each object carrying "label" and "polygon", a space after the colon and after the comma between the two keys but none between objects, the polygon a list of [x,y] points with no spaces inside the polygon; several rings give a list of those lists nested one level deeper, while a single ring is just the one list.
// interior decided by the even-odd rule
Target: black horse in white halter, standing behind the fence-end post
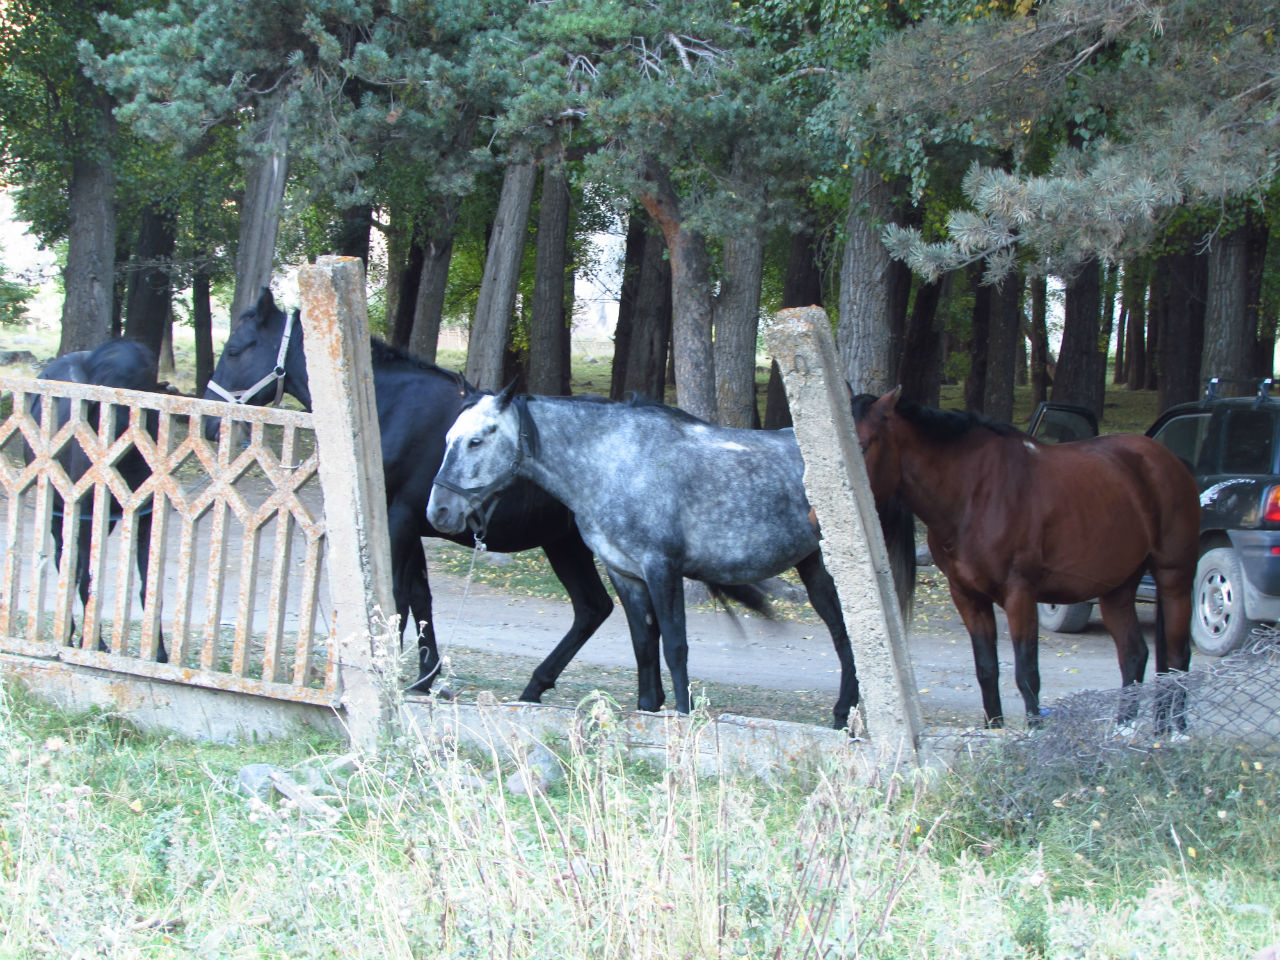
[{"label": "black horse in white halter, standing behind the fence-end post", "polygon": [[[257,305],[236,323],[205,398],[266,406],[288,393],[310,410],[302,326],[297,317],[297,311],[285,316],[271,292],[264,289]],[[582,543],[573,515],[532,484],[508,490],[472,527],[475,534],[433,527],[426,521],[426,502],[444,457],[444,435],[458,412],[484,393],[460,374],[417,360],[378,338],[371,339],[370,347],[396,614],[403,630],[404,618],[412,613],[419,631],[419,676],[410,690],[428,691],[440,669],[421,538],[443,538],[471,547],[479,536],[499,553],[540,547],[573,603],[572,626],[521,694],[522,700],[538,701],[613,611],[595,559]],[[206,419],[206,436],[216,438],[218,430],[219,421]]]}]

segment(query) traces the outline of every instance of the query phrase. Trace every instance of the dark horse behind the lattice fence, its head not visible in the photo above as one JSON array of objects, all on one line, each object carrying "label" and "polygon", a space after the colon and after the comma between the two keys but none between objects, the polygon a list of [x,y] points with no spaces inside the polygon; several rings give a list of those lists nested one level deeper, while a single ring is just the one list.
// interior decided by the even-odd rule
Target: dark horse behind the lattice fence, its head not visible
[{"label": "dark horse behind the lattice fence, its head not visible", "polygon": [[[50,364],[40,371],[38,379],[95,384],[99,387],[115,387],[152,393],[164,389],[156,380],[155,353],[136,340],[125,339],[108,340],[93,349],[65,353],[56,360],[50,361]],[[65,426],[70,420],[70,407],[72,401],[67,398],[58,398],[54,401],[54,415],[56,419],[55,430]],[[100,403],[84,404],[84,419],[95,430],[99,429],[101,416],[100,407]],[[28,410],[31,411],[32,417],[35,417],[38,422],[41,415],[41,398],[32,397]],[[119,436],[129,426],[129,408],[125,406],[110,404],[109,410],[113,411],[110,416],[115,417],[114,436]],[[155,435],[156,417],[154,413],[145,419],[145,428]],[[88,456],[74,439],[63,448],[61,453],[58,454],[58,462],[61,465],[72,483],[77,483],[82,476],[84,476],[90,467]],[[128,484],[131,490],[137,490],[138,486],[141,486],[147,477],[151,476],[151,467],[136,447],[131,447],[115,462],[115,470],[119,472],[120,479]],[[109,499],[110,518],[108,530],[110,531],[110,529],[114,527],[115,522],[120,518],[122,509],[120,503],[115,499],[115,497],[110,497]],[[88,605],[90,544],[93,530],[93,498],[91,493],[86,493],[81,497],[79,509],[79,534],[76,544],[76,585],[79,591],[81,603]],[[49,526],[50,534],[52,534],[54,538],[54,562],[59,566],[61,566],[63,557],[63,516],[65,515],[65,511],[67,507],[61,495],[55,492],[52,494],[52,516]],[[150,500],[137,509],[134,513],[134,544],[137,547],[137,566],[138,576],[141,579],[138,593],[142,595],[143,602],[146,602],[147,566],[151,552]],[[74,631],[74,625],[72,626],[72,630]],[[101,637],[99,637],[97,643],[99,649],[106,649]],[[160,663],[169,662],[169,654],[165,652],[163,637],[156,653],[156,660]]]}]

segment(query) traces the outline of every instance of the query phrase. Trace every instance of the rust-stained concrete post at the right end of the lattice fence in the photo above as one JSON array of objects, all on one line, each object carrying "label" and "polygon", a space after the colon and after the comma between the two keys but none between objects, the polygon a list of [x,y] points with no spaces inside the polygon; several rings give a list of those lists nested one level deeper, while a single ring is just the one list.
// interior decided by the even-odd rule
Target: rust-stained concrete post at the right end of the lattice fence
[{"label": "rust-stained concrete post at the right end of the lattice fence", "polygon": [[398,637],[388,626],[396,603],[364,265],[358,257],[320,257],[298,270],[298,292],[329,540],[332,643],[339,645],[351,740],[374,751],[401,696]]}]

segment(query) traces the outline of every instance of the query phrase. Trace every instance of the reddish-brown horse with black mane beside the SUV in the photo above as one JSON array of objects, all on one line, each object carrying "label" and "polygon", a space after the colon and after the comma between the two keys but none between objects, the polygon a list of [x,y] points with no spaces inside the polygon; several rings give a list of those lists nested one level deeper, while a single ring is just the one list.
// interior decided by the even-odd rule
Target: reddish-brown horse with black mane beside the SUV
[{"label": "reddish-brown horse with black mane beside the SUV", "polygon": [[[928,527],[973,641],[988,726],[1004,723],[993,603],[1009,617],[1032,724],[1041,719],[1037,602],[1098,598],[1128,686],[1147,669],[1134,600],[1149,570],[1156,672],[1188,668],[1199,497],[1175,454],[1132,434],[1042,444],[979,416],[900,402],[900,392],[852,401],[867,474],[877,499],[896,493]],[[1183,730],[1184,708],[1185,694],[1170,685],[1157,730]],[[1137,699],[1124,698],[1119,722],[1130,724],[1137,710]]]}]

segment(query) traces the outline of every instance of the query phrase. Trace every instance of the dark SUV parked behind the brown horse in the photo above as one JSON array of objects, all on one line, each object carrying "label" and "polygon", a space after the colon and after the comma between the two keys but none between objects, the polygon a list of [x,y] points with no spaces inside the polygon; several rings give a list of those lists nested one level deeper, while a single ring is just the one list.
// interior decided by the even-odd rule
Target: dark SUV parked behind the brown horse
[{"label": "dark SUV parked behind the brown horse", "polygon": [[[1249,383],[1252,396],[1224,397],[1233,384],[1210,380],[1202,401],[1170,407],[1147,430],[1190,466],[1201,490],[1192,639],[1213,657],[1280,620],[1280,399],[1271,380]],[[1155,599],[1149,577],[1138,595]],[[1089,607],[1042,604],[1041,625],[1080,630]]]}]

